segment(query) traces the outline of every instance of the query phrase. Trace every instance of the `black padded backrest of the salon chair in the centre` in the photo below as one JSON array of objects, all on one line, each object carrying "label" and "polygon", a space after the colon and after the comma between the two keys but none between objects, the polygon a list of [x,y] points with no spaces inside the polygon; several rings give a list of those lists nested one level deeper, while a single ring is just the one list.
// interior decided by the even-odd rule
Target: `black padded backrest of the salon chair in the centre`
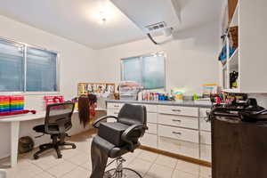
[{"label": "black padded backrest of the salon chair in the centre", "polygon": [[125,104],[118,113],[117,122],[125,125],[147,125],[146,107],[141,105]]}]

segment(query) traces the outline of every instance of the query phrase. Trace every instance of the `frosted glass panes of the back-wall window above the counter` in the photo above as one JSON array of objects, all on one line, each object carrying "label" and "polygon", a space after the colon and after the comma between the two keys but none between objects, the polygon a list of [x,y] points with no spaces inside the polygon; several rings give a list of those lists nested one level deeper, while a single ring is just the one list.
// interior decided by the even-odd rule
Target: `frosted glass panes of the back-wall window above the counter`
[{"label": "frosted glass panes of the back-wall window above the counter", "polygon": [[165,88],[164,53],[143,55],[122,60],[122,80],[142,84],[145,89]]}]

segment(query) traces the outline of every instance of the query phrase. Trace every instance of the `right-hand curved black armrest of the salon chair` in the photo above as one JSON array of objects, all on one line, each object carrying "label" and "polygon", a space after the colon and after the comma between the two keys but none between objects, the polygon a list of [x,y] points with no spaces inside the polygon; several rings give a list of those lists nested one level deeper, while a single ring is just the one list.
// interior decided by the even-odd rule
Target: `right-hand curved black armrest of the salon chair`
[{"label": "right-hand curved black armrest of the salon chair", "polygon": [[137,130],[141,130],[141,132],[142,132],[142,131],[145,131],[148,129],[149,129],[149,127],[146,125],[141,125],[141,124],[140,125],[132,125],[129,128],[127,128],[125,130],[125,132],[121,135],[121,139],[124,142],[129,143],[129,147],[130,147],[129,149],[130,149],[130,151],[133,152],[134,151],[134,143],[131,140],[129,140],[129,135],[131,135],[134,131],[137,131]]}]

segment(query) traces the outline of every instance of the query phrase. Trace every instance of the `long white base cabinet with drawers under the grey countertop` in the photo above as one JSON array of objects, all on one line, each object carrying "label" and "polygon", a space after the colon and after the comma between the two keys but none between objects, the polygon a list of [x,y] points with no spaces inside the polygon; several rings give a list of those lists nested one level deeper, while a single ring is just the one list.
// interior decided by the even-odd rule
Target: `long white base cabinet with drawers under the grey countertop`
[{"label": "long white base cabinet with drawers under the grey countertop", "polygon": [[[108,102],[108,115],[117,116],[122,103]],[[138,104],[138,103],[134,103]],[[211,161],[210,109],[160,104],[146,106],[149,130],[140,140],[142,146],[165,150],[189,158]]]}]

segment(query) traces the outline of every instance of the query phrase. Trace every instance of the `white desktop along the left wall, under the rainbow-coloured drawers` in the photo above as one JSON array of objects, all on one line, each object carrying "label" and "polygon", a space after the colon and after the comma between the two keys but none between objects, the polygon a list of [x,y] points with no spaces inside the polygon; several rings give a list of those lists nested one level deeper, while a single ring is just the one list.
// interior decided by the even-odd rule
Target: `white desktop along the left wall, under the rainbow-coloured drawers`
[{"label": "white desktop along the left wall, under the rainbow-coloured drawers", "polygon": [[[96,111],[104,111],[106,109],[96,109]],[[78,110],[74,110],[73,113],[77,113]],[[45,117],[45,111],[37,111],[36,114],[24,114],[18,116],[10,116],[10,117],[0,117],[0,123],[3,122],[16,122],[16,121],[28,121],[28,120],[36,120]]]}]

